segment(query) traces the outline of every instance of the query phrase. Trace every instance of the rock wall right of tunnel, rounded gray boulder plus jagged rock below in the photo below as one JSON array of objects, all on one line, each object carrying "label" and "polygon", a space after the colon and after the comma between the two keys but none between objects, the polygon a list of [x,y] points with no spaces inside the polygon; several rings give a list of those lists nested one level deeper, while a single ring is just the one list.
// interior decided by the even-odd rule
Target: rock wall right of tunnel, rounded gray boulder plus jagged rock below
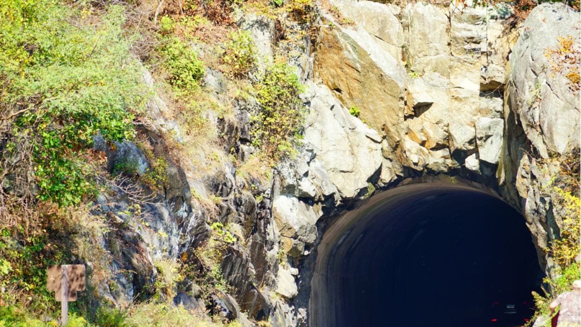
[{"label": "rock wall right of tunnel, rounded gray boulder plus jagged rock below", "polygon": [[510,58],[498,172],[504,198],[521,208],[549,274],[553,262],[540,249],[558,237],[562,212],[555,195],[543,190],[554,187],[550,176],[560,173],[559,155],[579,151],[579,91],[562,74],[551,73],[545,51],[568,35],[579,49],[579,14],[565,6],[539,5],[526,19]]}]

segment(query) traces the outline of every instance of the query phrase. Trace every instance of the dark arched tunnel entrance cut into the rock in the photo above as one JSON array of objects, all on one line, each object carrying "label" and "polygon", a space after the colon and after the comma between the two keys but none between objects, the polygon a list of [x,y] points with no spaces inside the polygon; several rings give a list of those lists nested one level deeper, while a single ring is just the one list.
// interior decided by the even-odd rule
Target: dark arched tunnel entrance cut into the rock
[{"label": "dark arched tunnel entrance cut into the rock", "polygon": [[318,247],[311,326],[522,326],[543,272],[525,220],[473,187],[397,187]]}]

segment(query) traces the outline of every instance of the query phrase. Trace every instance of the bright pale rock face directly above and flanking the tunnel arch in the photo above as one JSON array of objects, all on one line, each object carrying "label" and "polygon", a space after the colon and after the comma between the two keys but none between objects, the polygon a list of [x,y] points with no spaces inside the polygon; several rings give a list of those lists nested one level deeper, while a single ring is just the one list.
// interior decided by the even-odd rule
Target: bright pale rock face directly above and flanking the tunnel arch
[{"label": "bright pale rock face directly above and flanking the tunnel arch", "polygon": [[[356,24],[340,26],[333,17],[324,18],[331,23],[318,35],[303,159],[284,174],[282,184],[292,187],[281,187],[282,202],[296,198],[294,208],[309,208],[297,225],[308,232],[299,236],[296,228],[281,227],[300,221],[291,209],[277,220],[281,243],[288,244],[282,249],[304,275],[279,274],[284,297],[294,294],[295,281],[299,286],[292,301],[295,317],[306,310],[309,298],[305,267],[310,261],[300,253],[303,243],[310,248],[310,237],[309,243],[302,239],[317,230],[309,229],[307,220],[321,224],[341,212],[346,200],[364,198],[373,186],[385,187],[414,171],[461,175],[500,191],[521,208],[539,261],[549,271],[551,262],[540,249],[558,234],[561,222],[551,209],[555,200],[541,190],[551,183],[547,176],[554,175],[558,163],[540,165],[523,149],[533,145],[544,157],[579,148],[579,94],[564,77],[549,76],[544,56],[557,37],[576,35],[578,47],[579,15],[545,4],[533,10],[522,29],[513,29],[507,6],[461,12],[428,3],[405,8],[332,3]],[[506,69],[509,54],[511,70]],[[540,87],[534,91],[530,83],[536,80]],[[531,106],[530,94],[542,96]],[[359,119],[346,114],[353,106],[361,112]],[[556,110],[549,112],[550,106]],[[572,119],[560,123],[565,116]],[[299,319],[286,321],[299,324]]]}]

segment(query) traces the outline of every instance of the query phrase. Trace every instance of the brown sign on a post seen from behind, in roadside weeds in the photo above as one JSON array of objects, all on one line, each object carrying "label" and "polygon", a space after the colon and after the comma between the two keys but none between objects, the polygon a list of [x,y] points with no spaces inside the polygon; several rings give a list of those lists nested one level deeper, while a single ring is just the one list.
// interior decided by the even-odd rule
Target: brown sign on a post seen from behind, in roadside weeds
[{"label": "brown sign on a post seen from behind, in roadside weeds", "polygon": [[69,301],[77,300],[77,292],[85,290],[85,265],[52,265],[46,269],[46,288],[60,301],[60,323],[69,318]]}]

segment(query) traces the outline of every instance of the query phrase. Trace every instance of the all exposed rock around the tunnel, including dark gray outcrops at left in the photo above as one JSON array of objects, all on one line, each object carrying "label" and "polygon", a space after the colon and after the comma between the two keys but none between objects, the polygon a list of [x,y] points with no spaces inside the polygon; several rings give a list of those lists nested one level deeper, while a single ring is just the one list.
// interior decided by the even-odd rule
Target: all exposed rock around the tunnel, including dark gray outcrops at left
[{"label": "all exposed rock around the tunnel, including dark gray outcrops at left", "polygon": [[[270,318],[274,326],[308,325],[310,278],[325,228],[377,188],[438,174],[482,183],[520,209],[550,271],[540,249],[558,236],[562,218],[554,198],[543,193],[560,165],[548,159],[579,148],[579,92],[562,74],[551,73],[544,49],[567,35],[579,47],[579,14],[546,3],[514,28],[508,6],[461,12],[422,2],[403,8],[331,4],[354,24],[341,26],[323,14],[314,58],[306,50],[310,41],[295,55],[307,86],[300,153],[280,163],[266,183],[243,179],[234,163],[192,177],[182,169],[187,160],[171,162],[167,185],[155,204],[144,205],[152,214],[144,219],[123,215],[129,207],[123,194],[99,197],[98,214],[138,230],[119,232],[126,247],[111,249],[124,258],[117,268],[142,268],[128,278],[117,276],[122,294],[105,290],[106,296],[131,298],[155,280],[153,261],[192,254],[212,233],[206,223],[211,215],[231,226],[239,241],[225,246],[218,267],[233,290],[212,294],[207,308],[227,318],[243,317],[241,311],[254,321]],[[259,66],[266,67],[273,59],[275,22],[249,15],[238,23],[252,34],[264,55]],[[145,80],[153,83],[147,74]],[[215,101],[227,101],[220,72],[207,70],[205,84]],[[258,151],[250,118],[259,104],[238,98],[232,106],[230,120],[215,120],[228,154],[242,163]],[[166,118],[162,99],[149,107],[154,129],[170,131],[181,144],[180,128]],[[110,151],[97,141],[96,147],[106,152],[110,170],[124,160],[137,163],[138,174],[150,169],[135,144]],[[216,203],[207,209],[202,197]],[[174,301],[192,308],[203,303],[185,293]]]}]

